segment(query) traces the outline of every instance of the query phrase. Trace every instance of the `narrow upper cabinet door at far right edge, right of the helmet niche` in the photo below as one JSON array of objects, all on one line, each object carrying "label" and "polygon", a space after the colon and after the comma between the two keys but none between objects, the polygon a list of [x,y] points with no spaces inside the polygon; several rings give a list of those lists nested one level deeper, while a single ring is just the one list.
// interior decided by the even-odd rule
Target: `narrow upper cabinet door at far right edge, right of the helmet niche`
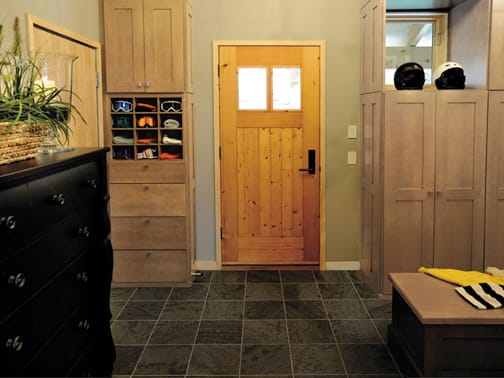
[{"label": "narrow upper cabinet door at far right edge, right of the helmet niche", "polygon": [[504,89],[504,0],[492,1],[488,89]]}]

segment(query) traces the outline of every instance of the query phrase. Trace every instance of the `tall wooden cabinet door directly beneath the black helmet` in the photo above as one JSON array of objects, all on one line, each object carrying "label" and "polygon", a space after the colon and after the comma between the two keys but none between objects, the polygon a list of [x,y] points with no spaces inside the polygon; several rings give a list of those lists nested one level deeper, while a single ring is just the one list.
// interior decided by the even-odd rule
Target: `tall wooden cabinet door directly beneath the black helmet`
[{"label": "tall wooden cabinet door directly beneath the black helmet", "polygon": [[434,91],[385,93],[383,292],[388,274],[433,262]]}]

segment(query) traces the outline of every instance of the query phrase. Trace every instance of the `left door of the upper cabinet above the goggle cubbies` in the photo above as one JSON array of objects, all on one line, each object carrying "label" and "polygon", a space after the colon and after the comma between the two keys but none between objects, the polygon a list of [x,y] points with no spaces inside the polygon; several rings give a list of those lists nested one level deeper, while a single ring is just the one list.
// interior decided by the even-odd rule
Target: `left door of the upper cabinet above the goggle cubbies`
[{"label": "left door of the upper cabinet above the goggle cubbies", "polygon": [[144,92],[143,8],[138,0],[103,1],[108,92]]}]

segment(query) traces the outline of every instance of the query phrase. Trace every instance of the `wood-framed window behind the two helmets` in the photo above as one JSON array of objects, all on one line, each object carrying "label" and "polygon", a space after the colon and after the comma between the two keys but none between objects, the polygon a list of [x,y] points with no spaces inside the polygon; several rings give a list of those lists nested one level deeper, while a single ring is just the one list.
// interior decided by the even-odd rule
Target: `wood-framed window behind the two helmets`
[{"label": "wood-framed window behind the two helmets", "polygon": [[425,87],[432,73],[446,61],[447,13],[387,13],[385,85],[394,85],[397,67],[419,63],[425,71]]}]

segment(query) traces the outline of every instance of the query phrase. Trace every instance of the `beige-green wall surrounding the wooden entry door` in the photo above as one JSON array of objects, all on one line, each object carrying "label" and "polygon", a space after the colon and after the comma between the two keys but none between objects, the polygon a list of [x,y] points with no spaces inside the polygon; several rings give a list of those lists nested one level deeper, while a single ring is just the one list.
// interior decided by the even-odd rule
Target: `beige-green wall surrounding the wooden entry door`
[{"label": "beige-green wall surrounding the wooden entry door", "polygon": [[195,81],[197,260],[215,260],[212,41],[325,40],[327,261],[359,259],[359,166],[347,126],[359,122],[360,2],[191,0]]}]

